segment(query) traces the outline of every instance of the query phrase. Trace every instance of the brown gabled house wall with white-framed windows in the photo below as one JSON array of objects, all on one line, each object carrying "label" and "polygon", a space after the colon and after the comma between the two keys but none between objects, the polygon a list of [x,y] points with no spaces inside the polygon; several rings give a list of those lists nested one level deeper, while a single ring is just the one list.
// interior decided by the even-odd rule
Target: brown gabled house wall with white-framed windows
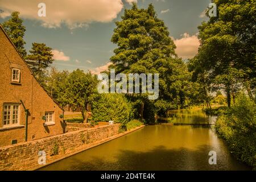
[{"label": "brown gabled house wall with white-framed windows", "polygon": [[1,26],[0,87],[0,147],[64,133],[63,110],[36,81]]}]

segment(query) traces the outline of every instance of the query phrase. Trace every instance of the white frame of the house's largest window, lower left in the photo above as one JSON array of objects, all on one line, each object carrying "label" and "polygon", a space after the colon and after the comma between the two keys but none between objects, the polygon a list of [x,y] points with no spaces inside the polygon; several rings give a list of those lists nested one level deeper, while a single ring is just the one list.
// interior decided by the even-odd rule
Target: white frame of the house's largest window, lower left
[{"label": "white frame of the house's largest window, lower left", "polygon": [[[8,107],[10,106],[10,115],[6,115],[5,114],[5,107]],[[14,111],[14,106],[18,106],[18,114],[15,114],[17,118],[16,121],[17,123],[13,123],[13,117],[14,117],[14,114],[13,114],[13,111]],[[10,119],[5,119],[5,115],[6,116],[9,116]],[[7,124],[7,121],[9,120],[9,124]],[[12,126],[19,126],[19,120],[20,120],[20,107],[19,107],[19,104],[3,104],[3,127],[12,127]],[[5,124],[5,121],[6,121],[6,124]]]}]

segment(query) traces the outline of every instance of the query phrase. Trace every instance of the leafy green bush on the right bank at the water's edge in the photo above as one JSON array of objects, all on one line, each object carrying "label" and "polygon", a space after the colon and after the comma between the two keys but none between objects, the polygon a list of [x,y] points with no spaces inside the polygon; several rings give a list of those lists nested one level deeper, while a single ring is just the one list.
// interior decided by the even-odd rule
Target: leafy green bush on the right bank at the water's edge
[{"label": "leafy green bush on the right bank at the water's edge", "polygon": [[222,110],[216,131],[230,151],[240,160],[256,168],[256,105],[245,94],[230,109]]}]

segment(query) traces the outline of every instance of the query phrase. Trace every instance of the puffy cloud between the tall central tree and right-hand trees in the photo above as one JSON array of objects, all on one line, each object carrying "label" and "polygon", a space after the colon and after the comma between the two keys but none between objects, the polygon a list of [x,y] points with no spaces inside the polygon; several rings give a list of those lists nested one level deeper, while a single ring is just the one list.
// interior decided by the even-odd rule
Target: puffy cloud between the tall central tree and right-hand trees
[{"label": "puffy cloud between the tall central tree and right-hand trees", "polygon": [[181,36],[181,39],[174,40],[177,47],[175,52],[178,56],[182,57],[182,59],[192,58],[197,54],[197,50],[200,46],[199,39],[196,35],[190,36],[188,33],[184,33]]}]

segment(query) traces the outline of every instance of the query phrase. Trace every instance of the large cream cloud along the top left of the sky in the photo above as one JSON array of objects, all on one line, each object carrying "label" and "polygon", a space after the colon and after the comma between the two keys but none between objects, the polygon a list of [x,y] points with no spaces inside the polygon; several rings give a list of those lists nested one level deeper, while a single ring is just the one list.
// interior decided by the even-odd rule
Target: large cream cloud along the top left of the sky
[{"label": "large cream cloud along the top left of the sky", "polygon": [[[39,17],[38,4],[40,2],[39,0],[1,1],[0,9],[3,10],[3,13],[19,11],[22,18],[42,21],[44,27],[56,28],[61,27],[61,24],[64,23],[72,29],[86,27],[91,22],[110,22],[123,8],[122,0],[62,0],[61,2],[44,0],[46,17]],[[1,16],[7,16],[6,13],[3,13]]]}]

